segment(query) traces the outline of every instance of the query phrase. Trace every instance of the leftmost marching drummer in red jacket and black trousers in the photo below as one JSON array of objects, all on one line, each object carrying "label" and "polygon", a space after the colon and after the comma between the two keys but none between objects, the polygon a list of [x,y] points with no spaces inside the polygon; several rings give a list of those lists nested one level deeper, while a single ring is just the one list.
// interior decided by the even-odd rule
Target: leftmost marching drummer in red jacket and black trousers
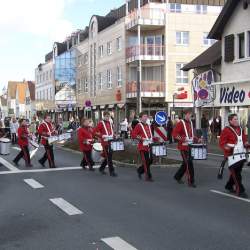
[{"label": "leftmost marching drummer in red jacket and black trousers", "polygon": [[18,162],[21,158],[25,160],[26,167],[32,167],[30,163],[30,153],[29,153],[29,131],[28,126],[26,124],[25,119],[20,119],[19,121],[19,128],[17,130],[18,134],[18,145],[21,148],[20,153],[16,156],[16,158],[13,160],[15,165],[18,165]]}]

